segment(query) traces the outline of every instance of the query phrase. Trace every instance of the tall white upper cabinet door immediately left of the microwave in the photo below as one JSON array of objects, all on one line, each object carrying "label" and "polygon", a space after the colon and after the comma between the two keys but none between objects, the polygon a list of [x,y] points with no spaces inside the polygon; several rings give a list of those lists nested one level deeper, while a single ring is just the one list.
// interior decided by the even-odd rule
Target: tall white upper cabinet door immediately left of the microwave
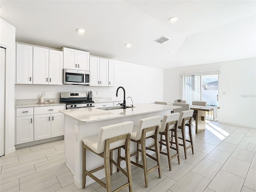
[{"label": "tall white upper cabinet door immediately left of the microwave", "polygon": [[49,50],[49,85],[63,84],[63,52]]}]

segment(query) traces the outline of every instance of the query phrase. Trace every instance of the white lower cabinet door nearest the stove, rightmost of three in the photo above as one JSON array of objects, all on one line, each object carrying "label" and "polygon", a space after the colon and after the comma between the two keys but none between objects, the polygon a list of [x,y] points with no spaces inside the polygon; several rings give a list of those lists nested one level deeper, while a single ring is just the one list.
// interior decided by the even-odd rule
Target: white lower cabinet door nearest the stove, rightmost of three
[{"label": "white lower cabinet door nearest the stove, rightmost of three", "polygon": [[52,113],[51,137],[64,135],[64,114]]}]

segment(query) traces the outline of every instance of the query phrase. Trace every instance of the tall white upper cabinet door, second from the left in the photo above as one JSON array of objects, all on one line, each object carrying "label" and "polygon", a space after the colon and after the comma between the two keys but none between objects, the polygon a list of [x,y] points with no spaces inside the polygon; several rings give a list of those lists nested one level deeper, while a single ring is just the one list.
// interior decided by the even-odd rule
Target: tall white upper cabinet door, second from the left
[{"label": "tall white upper cabinet door, second from the left", "polygon": [[49,84],[49,50],[33,47],[33,84]]}]

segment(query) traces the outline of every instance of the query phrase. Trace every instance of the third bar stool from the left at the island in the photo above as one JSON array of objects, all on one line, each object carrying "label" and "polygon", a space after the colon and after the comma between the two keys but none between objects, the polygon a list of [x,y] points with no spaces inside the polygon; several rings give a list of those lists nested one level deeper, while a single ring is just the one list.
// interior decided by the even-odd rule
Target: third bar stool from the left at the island
[{"label": "third bar stool from the left at the island", "polygon": [[[160,124],[160,129],[159,129],[159,134],[160,134],[160,153],[167,155],[168,157],[168,164],[169,164],[169,170],[172,170],[172,164],[171,164],[171,160],[175,157],[178,158],[178,164],[180,164],[180,153],[179,153],[179,143],[178,143],[178,120],[180,117],[180,113],[172,113],[172,114],[168,114],[165,115],[163,118],[163,121]],[[175,138],[175,142],[170,140],[170,131],[174,132],[174,138]],[[164,136],[164,139],[163,139]],[[170,144],[175,144],[176,148],[174,148],[173,146],[170,146]],[[166,152],[162,151],[162,146],[166,146]],[[170,154],[170,149],[174,149],[176,150],[176,154],[172,155]]]}]

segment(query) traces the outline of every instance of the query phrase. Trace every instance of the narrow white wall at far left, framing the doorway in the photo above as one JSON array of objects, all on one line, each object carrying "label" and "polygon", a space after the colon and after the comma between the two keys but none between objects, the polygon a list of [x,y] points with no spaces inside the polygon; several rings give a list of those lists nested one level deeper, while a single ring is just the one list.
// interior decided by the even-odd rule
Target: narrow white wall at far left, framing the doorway
[{"label": "narrow white wall at far left, framing the doorway", "polygon": [[5,154],[14,147],[15,27],[0,18],[0,44],[6,48]]}]

